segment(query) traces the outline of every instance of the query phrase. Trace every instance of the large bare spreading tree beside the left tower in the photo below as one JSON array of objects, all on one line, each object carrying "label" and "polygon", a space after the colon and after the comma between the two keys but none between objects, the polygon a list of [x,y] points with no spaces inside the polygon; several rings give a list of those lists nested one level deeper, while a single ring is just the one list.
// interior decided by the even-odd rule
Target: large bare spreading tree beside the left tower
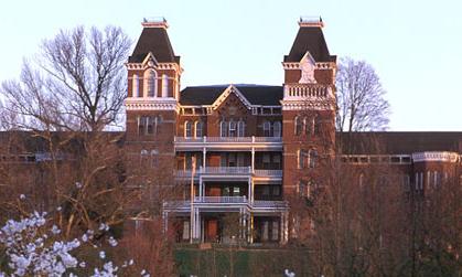
[{"label": "large bare spreading tree beside the left tower", "polygon": [[24,61],[19,82],[2,84],[4,108],[28,129],[95,131],[116,124],[130,45],[115,26],[61,31],[43,42],[35,63]]}]

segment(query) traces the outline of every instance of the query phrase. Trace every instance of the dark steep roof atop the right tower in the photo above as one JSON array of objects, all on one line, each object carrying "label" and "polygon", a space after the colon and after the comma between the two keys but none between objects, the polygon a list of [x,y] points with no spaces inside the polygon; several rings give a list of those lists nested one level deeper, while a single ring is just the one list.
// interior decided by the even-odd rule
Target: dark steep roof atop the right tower
[{"label": "dark steep roof atop the right tower", "polygon": [[284,56],[284,62],[300,62],[307,51],[315,62],[335,62],[336,60],[335,55],[329,53],[320,26],[300,26],[289,55]]}]

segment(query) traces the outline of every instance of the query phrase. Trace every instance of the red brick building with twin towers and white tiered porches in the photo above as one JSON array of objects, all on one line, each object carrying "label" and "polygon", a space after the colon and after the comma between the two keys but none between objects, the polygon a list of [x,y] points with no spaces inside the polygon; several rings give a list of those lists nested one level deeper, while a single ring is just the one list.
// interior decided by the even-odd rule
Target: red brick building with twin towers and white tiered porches
[{"label": "red brick building with twin towers and white tiered porches", "polygon": [[[176,180],[185,192],[193,184],[194,198],[185,193],[164,205],[180,241],[226,242],[225,217],[238,214],[249,243],[287,242],[287,196],[304,193],[304,172],[319,170],[321,159],[341,157],[358,168],[391,164],[421,191],[448,174],[460,175],[462,132],[335,134],[336,56],[327,50],[322,21],[299,22],[283,56],[282,86],[184,89],[166,22],[142,25],[127,63],[126,143],[132,155],[174,157]],[[343,140],[358,145],[369,137],[380,141],[380,150],[364,145],[339,150]]]}]

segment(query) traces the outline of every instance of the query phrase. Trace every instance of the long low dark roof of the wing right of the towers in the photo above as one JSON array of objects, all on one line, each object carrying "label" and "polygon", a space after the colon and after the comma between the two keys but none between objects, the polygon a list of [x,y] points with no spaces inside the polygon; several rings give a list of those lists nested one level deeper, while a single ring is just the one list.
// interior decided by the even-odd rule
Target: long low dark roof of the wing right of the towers
[{"label": "long low dark roof of the wing right of the towers", "polygon": [[343,153],[352,155],[410,155],[423,151],[462,153],[462,132],[456,131],[337,132],[336,138]]}]

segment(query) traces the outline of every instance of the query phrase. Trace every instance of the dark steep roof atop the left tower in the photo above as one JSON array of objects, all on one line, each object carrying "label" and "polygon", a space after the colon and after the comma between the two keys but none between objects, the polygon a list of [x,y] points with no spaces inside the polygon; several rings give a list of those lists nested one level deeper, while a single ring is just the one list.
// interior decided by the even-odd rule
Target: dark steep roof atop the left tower
[{"label": "dark steep roof atop the left tower", "polygon": [[163,28],[144,28],[128,62],[141,63],[149,52],[159,63],[180,63],[180,56],[173,53],[169,34]]}]

